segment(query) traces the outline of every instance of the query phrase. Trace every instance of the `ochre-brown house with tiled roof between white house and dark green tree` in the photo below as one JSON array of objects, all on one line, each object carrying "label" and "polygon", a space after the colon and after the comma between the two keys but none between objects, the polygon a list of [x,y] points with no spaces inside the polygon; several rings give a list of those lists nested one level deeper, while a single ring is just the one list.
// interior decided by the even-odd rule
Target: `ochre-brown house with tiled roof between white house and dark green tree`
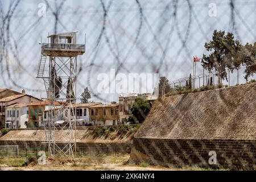
[{"label": "ochre-brown house with tiled roof between white house and dark green tree", "polygon": [[90,123],[92,125],[119,125],[119,105],[99,104],[89,107]]}]

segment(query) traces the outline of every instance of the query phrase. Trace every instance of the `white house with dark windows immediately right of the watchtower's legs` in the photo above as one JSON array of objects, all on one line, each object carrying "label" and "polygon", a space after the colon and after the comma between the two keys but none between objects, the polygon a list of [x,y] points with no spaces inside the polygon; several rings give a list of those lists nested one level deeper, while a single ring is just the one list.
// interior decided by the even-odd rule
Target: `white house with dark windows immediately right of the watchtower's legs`
[{"label": "white house with dark windows immediately right of the watchtower's legs", "polygon": [[[85,103],[85,104],[76,104],[73,105],[73,107],[76,106],[76,119],[79,119],[79,122],[77,122],[78,126],[84,126],[90,124],[90,115],[89,115],[89,107],[100,105],[100,102],[93,102],[93,103]],[[64,120],[70,121],[72,118],[72,109],[68,107],[69,109],[65,110]]]}]

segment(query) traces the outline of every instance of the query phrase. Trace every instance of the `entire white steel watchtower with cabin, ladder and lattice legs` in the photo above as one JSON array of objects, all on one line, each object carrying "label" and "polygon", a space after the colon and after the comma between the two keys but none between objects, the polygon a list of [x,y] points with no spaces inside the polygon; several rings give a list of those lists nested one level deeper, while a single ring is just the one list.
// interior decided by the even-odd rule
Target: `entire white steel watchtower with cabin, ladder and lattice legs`
[{"label": "entire white steel watchtower with cabin, ladder and lattice legs", "polygon": [[77,56],[85,53],[85,44],[77,44],[76,34],[49,35],[48,43],[41,43],[37,78],[44,81],[47,98],[42,100],[47,104],[39,118],[53,157],[74,157],[76,151]]}]

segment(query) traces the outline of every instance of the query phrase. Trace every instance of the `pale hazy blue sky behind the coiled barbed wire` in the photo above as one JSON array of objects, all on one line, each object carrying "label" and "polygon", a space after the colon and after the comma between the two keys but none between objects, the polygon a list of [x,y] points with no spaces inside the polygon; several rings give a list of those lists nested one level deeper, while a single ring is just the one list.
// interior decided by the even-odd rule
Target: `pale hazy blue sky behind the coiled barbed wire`
[{"label": "pale hazy blue sky behind the coiled barbed wire", "polygon": [[[3,17],[10,3],[15,5],[18,1],[0,2]],[[0,63],[0,88],[18,91],[24,88],[28,94],[45,97],[43,80],[36,78],[39,42],[42,39],[47,43],[48,34],[55,30],[79,31],[79,44],[84,44],[86,34],[86,53],[77,59],[80,70],[77,98],[88,86],[92,100],[104,103],[117,101],[119,96],[119,93],[98,90],[98,75],[110,75],[111,69],[125,75],[159,73],[174,81],[193,72],[193,56],[208,53],[204,44],[212,38],[215,29],[233,32],[243,44],[256,40],[256,1],[253,0],[233,1],[233,11],[227,0],[138,2],[20,1],[9,23],[7,20],[3,23],[3,18],[0,22],[2,40],[6,40],[8,49]],[[46,6],[45,16],[39,15],[42,3]],[[197,73],[201,72],[198,64]],[[244,82],[242,72],[240,82]],[[235,84],[236,73],[231,78]]]}]

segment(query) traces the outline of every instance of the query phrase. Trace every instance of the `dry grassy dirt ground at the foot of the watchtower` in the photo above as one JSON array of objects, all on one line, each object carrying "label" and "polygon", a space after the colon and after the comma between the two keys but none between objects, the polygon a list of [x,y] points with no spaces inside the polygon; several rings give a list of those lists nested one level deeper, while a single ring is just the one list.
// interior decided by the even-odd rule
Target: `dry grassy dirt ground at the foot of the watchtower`
[{"label": "dry grassy dirt ground at the foot of the watchtower", "polygon": [[119,156],[83,156],[77,159],[47,159],[46,164],[31,162],[24,166],[27,158],[0,158],[1,171],[76,171],[76,170],[107,170],[107,171],[145,171],[145,170],[173,170],[164,167],[153,167],[146,163],[135,165],[125,165],[129,155]]}]

